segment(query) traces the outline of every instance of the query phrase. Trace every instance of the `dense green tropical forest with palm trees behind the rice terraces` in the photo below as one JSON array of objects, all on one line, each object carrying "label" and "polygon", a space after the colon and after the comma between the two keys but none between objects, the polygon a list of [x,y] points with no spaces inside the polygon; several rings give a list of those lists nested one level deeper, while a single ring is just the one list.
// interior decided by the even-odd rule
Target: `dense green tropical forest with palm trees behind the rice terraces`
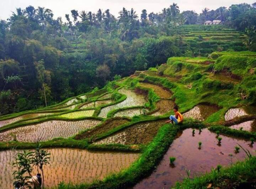
[{"label": "dense green tropical forest with palm trees behind the rice terraces", "polygon": [[[213,19],[224,26],[212,31],[224,35],[211,32],[191,39],[197,28],[208,30],[192,24]],[[16,8],[0,21],[0,114],[60,102],[173,56],[256,51],[255,25],[255,4],[204,8],[199,15],[180,12],[177,4],[160,13],[123,8],[117,18],[101,9],[71,10],[54,19],[45,7]],[[233,36],[226,35],[228,28],[234,29]]]}]

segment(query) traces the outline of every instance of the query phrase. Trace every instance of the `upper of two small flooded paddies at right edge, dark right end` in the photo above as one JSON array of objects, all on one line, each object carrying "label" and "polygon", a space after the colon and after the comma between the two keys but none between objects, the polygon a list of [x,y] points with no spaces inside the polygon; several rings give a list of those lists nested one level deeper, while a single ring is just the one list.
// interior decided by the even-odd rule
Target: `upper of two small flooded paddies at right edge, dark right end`
[{"label": "upper of two small flooded paddies at right edge, dark right end", "polygon": [[256,106],[245,106],[241,108],[231,108],[225,114],[225,121],[241,117],[244,115],[254,115],[256,114]]}]

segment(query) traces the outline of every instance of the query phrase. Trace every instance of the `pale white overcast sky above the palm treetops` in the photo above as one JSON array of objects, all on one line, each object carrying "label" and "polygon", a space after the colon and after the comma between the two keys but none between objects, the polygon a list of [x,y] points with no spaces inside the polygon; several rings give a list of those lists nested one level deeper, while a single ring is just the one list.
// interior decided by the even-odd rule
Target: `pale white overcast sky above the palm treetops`
[{"label": "pale white overcast sky above the palm treetops", "polygon": [[160,12],[163,8],[169,7],[173,2],[177,3],[181,11],[194,10],[200,13],[204,7],[210,10],[220,6],[229,7],[232,4],[248,3],[252,4],[256,0],[0,0],[0,19],[7,19],[11,15],[11,11],[15,11],[16,7],[25,9],[27,6],[46,7],[53,11],[54,18],[63,17],[65,14],[71,15],[70,10],[92,11],[97,12],[99,8],[104,11],[109,8],[110,12],[118,16],[118,12],[126,7],[128,10],[134,8],[140,15],[143,9],[150,12]]}]

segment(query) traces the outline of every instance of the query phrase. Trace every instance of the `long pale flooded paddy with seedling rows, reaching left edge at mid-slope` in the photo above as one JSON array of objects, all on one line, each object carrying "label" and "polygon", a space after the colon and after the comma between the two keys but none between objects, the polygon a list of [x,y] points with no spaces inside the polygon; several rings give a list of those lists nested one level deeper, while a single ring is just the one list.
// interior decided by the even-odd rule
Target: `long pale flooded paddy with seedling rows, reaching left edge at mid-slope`
[{"label": "long pale flooded paddy with seedling rows, reaching left edge at mid-slope", "polygon": [[52,120],[35,125],[14,128],[0,133],[0,142],[12,141],[16,136],[20,142],[48,141],[57,137],[71,137],[80,131],[100,124],[98,120],[61,121]]}]

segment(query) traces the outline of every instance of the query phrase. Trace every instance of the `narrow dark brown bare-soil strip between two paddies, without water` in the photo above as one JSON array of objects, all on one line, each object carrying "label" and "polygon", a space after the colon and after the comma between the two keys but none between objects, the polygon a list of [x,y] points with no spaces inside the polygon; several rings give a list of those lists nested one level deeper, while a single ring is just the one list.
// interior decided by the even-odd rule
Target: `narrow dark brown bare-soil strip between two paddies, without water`
[{"label": "narrow dark brown bare-soil strip between two paddies, without water", "polygon": [[79,134],[78,136],[76,136],[75,139],[90,138],[90,137],[95,136],[97,134],[102,134],[102,133],[108,132],[108,131],[112,130],[115,127],[126,124],[127,122],[129,122],[129,121],[127,119],[124,119],[124,118],[108,119],[102,125],[100,125],[98,127],[95,127],[92,130],[87,131],[85,133]]}]

